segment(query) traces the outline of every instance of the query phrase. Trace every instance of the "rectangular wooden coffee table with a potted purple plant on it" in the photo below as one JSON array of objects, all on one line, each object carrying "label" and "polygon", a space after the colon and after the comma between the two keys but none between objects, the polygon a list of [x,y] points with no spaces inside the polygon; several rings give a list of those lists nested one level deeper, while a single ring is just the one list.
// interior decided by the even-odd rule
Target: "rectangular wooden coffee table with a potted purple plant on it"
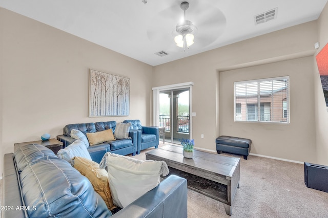
[{"label": "rectangular wooden coffee table with a potted purple plant on it", "polygon": [[169,175],[186,178],[188,188],[222,202],[226,213],[231,215],[232,201],[239,188],[239,158],[194,150],[194,157],[187,159],[181,146],[165,145],[147,151],[146,160],[165,161]]}]

